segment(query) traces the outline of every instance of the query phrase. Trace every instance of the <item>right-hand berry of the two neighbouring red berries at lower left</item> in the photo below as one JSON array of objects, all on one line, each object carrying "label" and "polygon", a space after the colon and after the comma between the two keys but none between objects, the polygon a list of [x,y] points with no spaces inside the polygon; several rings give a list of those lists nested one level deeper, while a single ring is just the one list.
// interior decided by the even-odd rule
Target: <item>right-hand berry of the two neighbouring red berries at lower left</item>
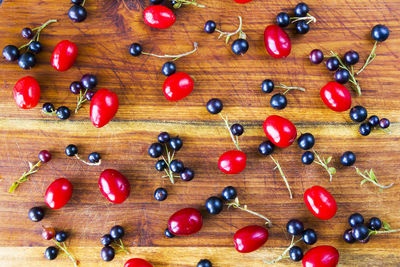
[{"label": "right-hand berry of the two neighbouring red berries at lower left", "polygon": [[115,204],[124,202],[131,192],[128,179],[113,169],[104,170],[100,174],[99,188],[103,196]]}]

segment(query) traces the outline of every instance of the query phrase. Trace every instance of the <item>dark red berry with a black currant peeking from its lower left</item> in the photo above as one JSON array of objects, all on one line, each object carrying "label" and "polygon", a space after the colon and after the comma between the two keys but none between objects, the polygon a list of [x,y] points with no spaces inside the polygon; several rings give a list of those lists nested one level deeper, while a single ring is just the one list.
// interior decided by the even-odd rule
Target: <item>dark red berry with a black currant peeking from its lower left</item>
[{"label": "dark red berry with a black currant peeking from its lower left", "polygon": [[194,208],[178,210],[168,220],[169,231],[178,236],[192,235],[200,231],[203,226],[203,217],[200,211]]}]

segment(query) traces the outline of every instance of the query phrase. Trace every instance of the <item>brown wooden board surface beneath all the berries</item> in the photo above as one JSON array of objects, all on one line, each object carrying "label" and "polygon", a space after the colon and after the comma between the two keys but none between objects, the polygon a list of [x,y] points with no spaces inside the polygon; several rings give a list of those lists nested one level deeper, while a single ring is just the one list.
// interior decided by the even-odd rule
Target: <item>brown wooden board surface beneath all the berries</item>
[{"label": "brown wooden board surface beneath all the berries", "polygon": [[[314,228],[318,232],[317,245],[337,247],[341,266],[400,266],[399,234],[376,236],[365,245],[348,245],[341,238],[347,217],[356,211],[366,218],[378,216],[393,228],[400,228],[400,1],[308,0],[318,22],[305,36],[295,36],[289,30],[293,49],[286,60],[275,60],[266,54],[263,31],[277,13],[290,11],[297,1],[254,0],[246,5],[232,0],[201,2],[208,8],[181,8],[176,11],[177,22],[167,30],[150,29],[143,23],[141,13],[148,4],[144,0],[87,0],[89,15],[79,24],[67,17],[67,0],[3,2],[0,47],[22,44],[24,40],[19,34],[23,27],[36,27],[50,18],[60,22],[43,31],[44,51],[33,70],[23,71],[15,63],[0,61],[1,266],[70,266],[63,257],[52,262],[44,258],[44,249],[50,242],[41,238],[41,224],[71,233],[68,245],[81,266],[122,266],[134,256],[143,257],[154,266],[195,266],[201,258],[209,258],[217,267],[264,266],[264,258],[272,259],[289,244],[289,237],[279,226],[290,218],[302,219],[306,227]],[[243,16],[243,29],[250,44],[243,57],[234,56],[230,45],[217,40],[216,34],[202,31],[208,19],[214,19],[223,30],[234,30],[237,15]],[[319,89],[332,77],[323,65],[312,66],[307,57],[314,48],[341,53],[354,49],[364,59],[373,45],[370,29],[378,23],[387,25],[391,35],[379,46],[373,64],[359,77],[363,96],[353,94],[353,103],[364,105],[370,114],[389,118],[392,134],[374,131],[361,137],[347,112],[335,113],[323,105]],[[78,45],[79,56],[71,70],[59,73],[49,62],[54,45],[63,39]],[[147,52],[162,54],[189,51],[195,41],[199,51],[177,62],[179,71],[193,76],[195,89],[176,103],[167,102],[162,94],[165,78],[160,68],[165,60],[133,58],[128,53],[132,42],[141,43]],[[69,84],[88,72],[97,75],[99,88],[106,87],[119,96],[120,107],[110,124],[94,128],[88,105],[68,121],[41,114],[41,105],[48,101],[56,106],[74,107],[76,98],[69,92]],[[32,110],[18,109],[12,98],[15,82],[25,75],[34,76],[42,88],[40,104]],[[288,107],[275,111],[269,106],[270,95],[259,88],[265,78],[303,86],[307,91],[290,93]],[[245,126],[241,145],[248,155],[248,164],[241,174],[224,175],[218,170],[218,157],[234,147],[220,118],[205,109],[212,97],[223,100],[224,112],[231,122]],[[315,135],[315,149],[323,156],[332,155],[338,168],[332,183],[321,167],[301,164],[302,151],[297,145],[278,149],[274,156],[294,192],[294,199],[288,198],[271,160],[257,152],[258,144],[266,139],[262,122],[271,114],[283,115],[299,131]],[[172,186],[154,170],[155,160],[148,157],[147,148],[160,131],[182,137],[184,147],[177,157],[195,170],[193,181],[179,181]],[[70,143],[78,145],[85,157],[92,151],[101,153],[104,163],[89,167],[67,158],[64,148]],[[9,186],[26,170],[27,161],[35,161],[42,149],[51,151],[53,160],[15,194],[8,194]],[[354,169],[339,166],[339,157],[347,150],[356,153],[359,168],[373,168],[383,184],[396,185],[384,192],[368,183],[360,188],[361,177]],[[121,205],[108,203],[99,192],[98,176],[106,168],[121,171],[131,183],[131,196]],[[59,177],[73,182],[71,201],[61,210],[46,210],[41,223],[32,223],[27,218],[29,208],[44,205],[47,186]],[[313,217],[303,202],[303,192],[317,184],[326,187],[338,202],[338,212],[329,221]],[[205,215],[203,229],[196,235],[164,238],[163,230],[174,211],[184,207],[204,211],[204,201],[227,185],[238,189],[242,203],[278,225],[270,230],[270,238],[261,250],[245,255],[234,250],[232,237],[237,229],[263,223],[238,210]],[[159,186],[169,192],[164,202],[153,198]],[[103,263],[99,240],[114,224],[125,227],[124,242],[132,255],[119,254],[111,263]],[[280,264],[296,265],[289,260]]]}]

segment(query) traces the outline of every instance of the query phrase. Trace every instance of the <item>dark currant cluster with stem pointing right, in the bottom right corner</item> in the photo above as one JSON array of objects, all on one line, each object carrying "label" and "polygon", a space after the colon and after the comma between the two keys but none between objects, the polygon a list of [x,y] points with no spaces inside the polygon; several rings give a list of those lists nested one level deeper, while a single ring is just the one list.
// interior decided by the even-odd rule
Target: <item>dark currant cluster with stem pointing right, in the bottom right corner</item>
[{"label": "dark currant cluster with stem pointing right, in the bottom right corner", "polygon": [[400,231],[400,229],[392,229],[388,223],[377,217],[372,217],[368,223],[364,223],[364,217],[360,213],[350,215],[348,222],[351,228],[344,232],[343,239],[349,244],[356,241],[367,243],[372,235]]}]

